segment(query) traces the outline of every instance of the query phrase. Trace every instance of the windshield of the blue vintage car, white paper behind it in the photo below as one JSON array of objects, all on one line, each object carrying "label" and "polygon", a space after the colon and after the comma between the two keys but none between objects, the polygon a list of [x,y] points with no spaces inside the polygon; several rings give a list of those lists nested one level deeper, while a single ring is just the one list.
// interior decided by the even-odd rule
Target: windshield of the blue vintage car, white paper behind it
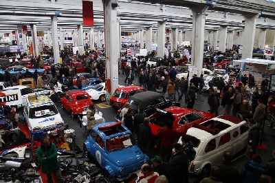
[{"label": "windshield of the blue vintage car, white paper behind it", "polygon": [[115,136],[113,138],[109,138],[106,141],[108,151],[116,151],[120,149],[124,149],[126,147],[131,147],[135,144],[135,140],[131,133],[127,133],[121,136]]}]

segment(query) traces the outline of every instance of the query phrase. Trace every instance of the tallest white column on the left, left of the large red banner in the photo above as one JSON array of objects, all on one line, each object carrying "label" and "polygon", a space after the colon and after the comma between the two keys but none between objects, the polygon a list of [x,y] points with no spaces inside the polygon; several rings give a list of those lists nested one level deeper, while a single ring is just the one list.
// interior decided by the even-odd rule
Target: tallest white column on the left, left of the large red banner
[{"label": "tallest white column on the left, left of the large red banner", "polygon": [[52,47],[54,50],[54,63],[60,63],[56,16],[51,17],[51,25],[52,25]]}]

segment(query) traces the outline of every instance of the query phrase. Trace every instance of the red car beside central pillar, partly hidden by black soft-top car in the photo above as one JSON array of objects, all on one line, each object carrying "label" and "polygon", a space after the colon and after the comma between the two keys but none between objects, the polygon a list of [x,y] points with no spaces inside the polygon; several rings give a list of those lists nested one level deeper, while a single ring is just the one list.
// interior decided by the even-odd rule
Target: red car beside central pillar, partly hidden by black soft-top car
[{"label": "red car beside central pillar, partly hidden by black soft-top car", "polygon": [[139,86],[118,87],[110,98],[110,105],[116,109],[120,109],[124,107],[130,96],[145,91],[144,87]]}]

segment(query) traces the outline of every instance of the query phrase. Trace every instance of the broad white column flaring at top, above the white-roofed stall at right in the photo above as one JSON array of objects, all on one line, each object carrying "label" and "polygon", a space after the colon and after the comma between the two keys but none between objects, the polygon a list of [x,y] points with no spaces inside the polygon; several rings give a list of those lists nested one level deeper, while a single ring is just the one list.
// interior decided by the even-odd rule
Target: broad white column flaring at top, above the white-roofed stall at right
[{"label": "broad white column flaring at top, above the white-roofed stall at right", "polygon": [[243,14],[245,18],[245,28],[241,33],[241,40],[243,45],[243,55],[242,58],[252,58],[254,37],[256,30],[256,19],[259,17],[259,14],[255,13],[245,13]]}]

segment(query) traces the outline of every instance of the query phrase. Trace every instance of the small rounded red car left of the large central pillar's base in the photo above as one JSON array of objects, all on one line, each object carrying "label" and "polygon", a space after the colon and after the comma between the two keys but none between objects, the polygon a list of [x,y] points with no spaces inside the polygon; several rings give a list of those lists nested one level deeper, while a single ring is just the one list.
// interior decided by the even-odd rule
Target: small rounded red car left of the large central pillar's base
[{"label": "small rounded red car left of the large central pillar's base", "polygon": [[62,109],[69,111],[72,118],[76,118],[76,116],[82,116],[83,111],[87,111],[91,104],[91,97],[83,90],[73,89],[66,92],[65,96],[61,98],[61,103]]}]

